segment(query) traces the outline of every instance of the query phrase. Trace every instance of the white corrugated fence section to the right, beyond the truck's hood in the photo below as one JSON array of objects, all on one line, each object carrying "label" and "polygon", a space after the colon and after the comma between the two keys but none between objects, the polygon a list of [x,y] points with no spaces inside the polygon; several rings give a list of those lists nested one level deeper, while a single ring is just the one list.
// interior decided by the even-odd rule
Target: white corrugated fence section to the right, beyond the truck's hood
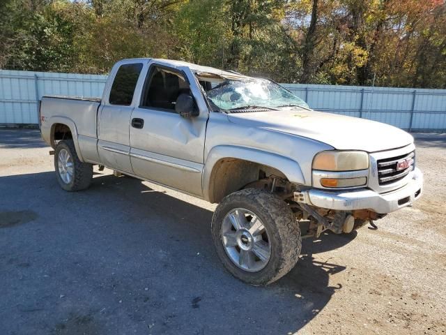
[{"label": "white corrugated fence section to the right, beyond the truck's hood", "polygon": [[411,131],[446,130],[446,89],[284,84],[314,110],[363,117]]}]

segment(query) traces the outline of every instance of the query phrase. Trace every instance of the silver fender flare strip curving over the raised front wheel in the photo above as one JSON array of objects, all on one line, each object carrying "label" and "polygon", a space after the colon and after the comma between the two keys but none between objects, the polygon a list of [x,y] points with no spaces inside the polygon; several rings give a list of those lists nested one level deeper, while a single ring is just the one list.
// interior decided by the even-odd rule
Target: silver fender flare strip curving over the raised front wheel
[{"label": "silver fender flare strip curving over the raised front wheel", "polygon": [[259,163],[275,168],[285,174],[286,178],[295,184],[305,184],[305,178],[300,165],[290,158],[272,154],[257,149],[238,147],[233,145],[219,145],[209,151],[204,165],[202,185],[204,199],[210,199],[210,178],[215,164],[222,158],[238,158],[243,161]]}]

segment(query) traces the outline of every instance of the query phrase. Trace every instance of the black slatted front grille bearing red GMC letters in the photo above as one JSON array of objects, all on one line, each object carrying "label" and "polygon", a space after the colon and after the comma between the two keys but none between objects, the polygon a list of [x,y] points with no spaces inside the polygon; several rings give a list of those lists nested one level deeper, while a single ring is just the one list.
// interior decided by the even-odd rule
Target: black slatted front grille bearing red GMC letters
[{"label": "black slatted front grille bearing red GMC letters", "polygon": [[383,158],[378,160],[377,163],[379,184],[393,184],[406,177],[413,170],[415,151],[397,157]]}]

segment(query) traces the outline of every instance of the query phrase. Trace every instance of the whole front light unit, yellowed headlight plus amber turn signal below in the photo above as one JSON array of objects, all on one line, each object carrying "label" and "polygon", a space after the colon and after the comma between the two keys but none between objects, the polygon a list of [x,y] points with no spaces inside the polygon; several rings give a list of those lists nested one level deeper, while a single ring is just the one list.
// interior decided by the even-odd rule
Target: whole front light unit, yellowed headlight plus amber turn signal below
[{"label": "whole front light unit, yellowed headlight plus amber turn signal below", "polygon": [[364,151],[322,151],[313,160],[313,186],[357,188],[367,186],[369,154]]}]

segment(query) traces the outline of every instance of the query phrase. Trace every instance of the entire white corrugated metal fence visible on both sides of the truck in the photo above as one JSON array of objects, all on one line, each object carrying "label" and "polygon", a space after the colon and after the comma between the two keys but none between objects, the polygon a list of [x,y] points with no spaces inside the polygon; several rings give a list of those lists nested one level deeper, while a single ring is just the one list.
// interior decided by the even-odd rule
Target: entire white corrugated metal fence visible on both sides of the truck
[{"label": "entire white corrugated metal fence visible on both sides of the truck", "polygon": [[[0,70],[0,125],[38,124],[43,95],[102,96],[106,75]],[[446,130],[446,89],[284,84],[314,110],[412,131]]]}]

